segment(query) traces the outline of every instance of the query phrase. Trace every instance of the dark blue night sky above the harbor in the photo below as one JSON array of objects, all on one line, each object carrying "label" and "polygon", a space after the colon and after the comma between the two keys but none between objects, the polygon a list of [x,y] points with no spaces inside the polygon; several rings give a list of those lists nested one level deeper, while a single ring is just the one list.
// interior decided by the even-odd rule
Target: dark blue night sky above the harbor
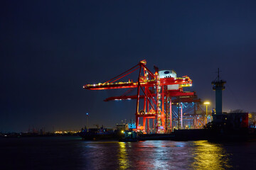
[{"label": "dark blue night sky above the harbor", "polygon": [[[134,119],[135,101],[88,91],[140,60],[174,69],[215,107],[256,112],[255,1],[1,1],[0,132],[78,130]],[[94,126],[95,127],[95,126]]]}]

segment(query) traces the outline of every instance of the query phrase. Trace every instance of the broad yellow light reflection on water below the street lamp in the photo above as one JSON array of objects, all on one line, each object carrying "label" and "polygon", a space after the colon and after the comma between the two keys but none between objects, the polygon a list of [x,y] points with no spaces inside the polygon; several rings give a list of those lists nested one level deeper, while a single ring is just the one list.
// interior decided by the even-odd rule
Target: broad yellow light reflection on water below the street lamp
[{"label": "broad yellow light reflection on water below the street lamp", "polygon": [[192,169],[230,169],[228,153],[220,144],[213,144],[204,140],[193,142],[194,162]]}]

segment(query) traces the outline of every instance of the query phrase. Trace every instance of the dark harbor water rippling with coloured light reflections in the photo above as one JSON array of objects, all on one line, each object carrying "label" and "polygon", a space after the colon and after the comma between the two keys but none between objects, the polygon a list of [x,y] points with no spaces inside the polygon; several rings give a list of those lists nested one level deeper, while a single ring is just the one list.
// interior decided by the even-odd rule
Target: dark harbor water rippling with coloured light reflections
[{"label": "dark harbor water rippling with coloured light reflections", "polygon": [[255,169],[256,142],[1,138],[0,169]]}]

